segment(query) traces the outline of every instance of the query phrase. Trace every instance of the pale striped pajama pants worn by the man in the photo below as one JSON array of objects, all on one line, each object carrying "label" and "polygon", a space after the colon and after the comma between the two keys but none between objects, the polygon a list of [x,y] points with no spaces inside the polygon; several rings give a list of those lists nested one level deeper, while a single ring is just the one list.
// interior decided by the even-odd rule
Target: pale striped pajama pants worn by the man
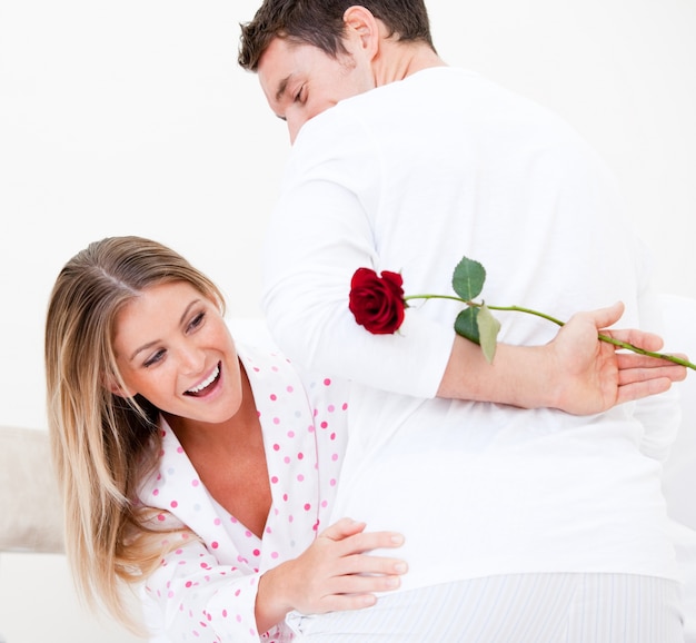
[{"label": "pale striped pajama pants worn by the man", "polygon": [[301,643],[683,643],[680,586],[623,574],[490,576],[291,614]]}]

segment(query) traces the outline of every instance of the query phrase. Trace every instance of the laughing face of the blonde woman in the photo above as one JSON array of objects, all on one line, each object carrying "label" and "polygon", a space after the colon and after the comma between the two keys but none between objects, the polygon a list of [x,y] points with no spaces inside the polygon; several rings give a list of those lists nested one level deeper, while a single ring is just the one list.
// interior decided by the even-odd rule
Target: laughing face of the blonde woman
[{"label": "laughing face of the blonde woman", "polygon": [[216,304],[186,281],[152,286],[116,318],[113,349],[127,390],[160,410],[217,424],[241,405],[235,344]]}]

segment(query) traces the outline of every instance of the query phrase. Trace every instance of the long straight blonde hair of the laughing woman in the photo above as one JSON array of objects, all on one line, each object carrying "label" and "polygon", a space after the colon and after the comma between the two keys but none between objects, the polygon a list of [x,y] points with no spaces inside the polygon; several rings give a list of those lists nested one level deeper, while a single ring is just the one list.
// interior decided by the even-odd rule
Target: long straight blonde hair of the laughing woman
[{"label": "long straight blonde hair of the laughing woman", "polygon": [[159,452],[159,412],[139,396],[111,393],[109,383],[123,384],[112,340],[119,310],[171,281],[192,285],[223,313],[217,286],[170,248],[135,236],[95,241],[60,271],[46,322],[48,424],[67,554],[89,604],[100,601],[136,631],[121,590],[167,551],[162,531],[149,526],[155,510],[137,501]]}]

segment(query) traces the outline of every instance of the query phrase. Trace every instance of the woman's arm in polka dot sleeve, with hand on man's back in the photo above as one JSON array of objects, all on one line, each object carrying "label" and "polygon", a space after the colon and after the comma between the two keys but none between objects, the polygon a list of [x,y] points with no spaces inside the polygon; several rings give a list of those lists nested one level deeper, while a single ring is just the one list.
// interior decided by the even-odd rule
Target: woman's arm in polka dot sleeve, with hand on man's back
[{"label": "woman's arm in polka dot sleeve, with hand on man's back", "polygon": [[145,584],[146,625],[151,635],[172,643],[237,641],[272,630],[291,610],[369,606],[374,592],[398,587],[406,564],[367,555],[398,547],[400,535],[364,530],[364,523],[344,518],[304,554],[265,573],[221,565],[200,542],[182,545],[165,556]]}]

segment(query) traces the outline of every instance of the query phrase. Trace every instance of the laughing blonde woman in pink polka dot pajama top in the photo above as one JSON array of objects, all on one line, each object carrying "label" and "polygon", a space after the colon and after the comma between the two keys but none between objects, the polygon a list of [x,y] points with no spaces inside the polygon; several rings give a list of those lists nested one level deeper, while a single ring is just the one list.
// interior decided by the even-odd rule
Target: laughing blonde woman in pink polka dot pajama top
[{"label": "laughing blonde woman in pink polka dot pajama top", "polygon": [[[97,241],[61,270],[46,325],[49,428],[81,591],[155,639],[289,641],[285,615],[372,605],[401,536],[325,528],[347,389],[236,346],[220,290],[171,249]],[[320,535],[317,533],[321,530]]]}]

